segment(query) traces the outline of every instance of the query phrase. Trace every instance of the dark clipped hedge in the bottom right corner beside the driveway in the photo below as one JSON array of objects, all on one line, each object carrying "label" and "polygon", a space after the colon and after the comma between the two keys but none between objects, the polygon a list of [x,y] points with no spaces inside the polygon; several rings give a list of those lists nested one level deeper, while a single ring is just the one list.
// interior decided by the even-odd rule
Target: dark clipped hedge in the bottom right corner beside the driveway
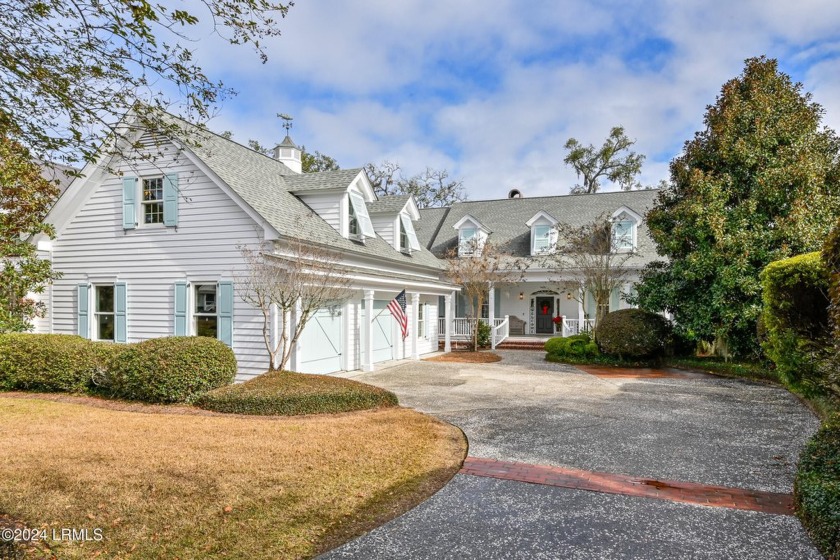
[{"label": "dark clipped hedge in the bottom right corner beside the driveway", "polygon": [[840,415],[826,422],[799,458],[797,511],[817,548],[840,558]]}]

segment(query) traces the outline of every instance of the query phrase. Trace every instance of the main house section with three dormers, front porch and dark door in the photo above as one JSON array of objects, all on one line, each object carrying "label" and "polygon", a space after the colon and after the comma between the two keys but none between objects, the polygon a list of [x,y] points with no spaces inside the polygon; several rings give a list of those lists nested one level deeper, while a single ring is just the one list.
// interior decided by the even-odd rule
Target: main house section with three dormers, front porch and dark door
[{"label": "main house section with three dormers, front porch and dark door", "polygon": [[[641,269],[656,258],[656,249],[643,217],[653,205],[657,190],[637,190],[523,198],[519,191],[501,200],[458,202],[448,208],[422,210],[417,235],[438,257],[456,250],[461,258],[480,242],[489,240],[502,252],[521,259],[526,268],[522,280],[492,286],[481,310],[483,318],[498,328],[496,342],[507,335],[569,335],[591,329],[595,300],[581,293],[580,271],[558,270],[550,258],[557,244],[558,224],[580,227],[599,218],[611,221],[611,236],[617,252],[626,252],[623,266],[628,274],[624,285],[613,290],[609,311],[629,307],[625,296],[633,291]],[[464,327],[470,307],[458,294],[454,298],[452,328],[456,335]],[[444,303],[438,308],[441,328],[445,327]],[[553,319],[563,317],[562,325]],[[504,324],[504,328],[499,328]],[[497,329],[494,329],[494,331]],[[443,331],[441,331],[443,332]]]}]

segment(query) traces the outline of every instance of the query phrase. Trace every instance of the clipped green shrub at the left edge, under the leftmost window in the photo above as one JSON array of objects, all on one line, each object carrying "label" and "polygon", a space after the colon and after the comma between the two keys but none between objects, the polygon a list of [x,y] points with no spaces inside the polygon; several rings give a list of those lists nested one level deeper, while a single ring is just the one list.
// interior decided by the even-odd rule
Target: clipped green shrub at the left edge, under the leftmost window
[{"label": "clipped green shrub at the left edge, under the leftmost window", "polygon": [[103,368],[100,344],[67,334],[0,335],[0,389],[85,391]]}]

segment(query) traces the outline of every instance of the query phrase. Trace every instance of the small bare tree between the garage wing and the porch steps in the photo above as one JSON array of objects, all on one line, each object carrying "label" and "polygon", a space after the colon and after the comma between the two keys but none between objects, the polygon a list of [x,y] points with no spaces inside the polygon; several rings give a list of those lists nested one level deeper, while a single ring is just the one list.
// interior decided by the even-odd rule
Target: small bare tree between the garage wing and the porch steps
[{"label": "small bare tree between the garage wing and the porch steps", "polygon": [[470,338],[473,351],[478,350],[478,323],[481,308],[490,296],[490,287],[522,279],[522,262],[502,253],[489,242],[475,239],[469,246],[452,249],[446,254],[446,277],[461,286],[467,300]]}]

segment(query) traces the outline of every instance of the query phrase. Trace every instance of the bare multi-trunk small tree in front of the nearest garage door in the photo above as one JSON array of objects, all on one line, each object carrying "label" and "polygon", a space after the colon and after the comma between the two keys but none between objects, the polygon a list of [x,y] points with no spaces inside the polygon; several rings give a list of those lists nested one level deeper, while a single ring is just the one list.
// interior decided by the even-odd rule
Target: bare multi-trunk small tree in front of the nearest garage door
[{"label": "bare multi-trunk small tree in front of the nearest garage door", "polygon": [[[289,242],[282,254],[241,251],[247,266],[234,275],[236,291],[262,314],[269,367],[283,370],[314,314],[350,297],[350,278],[334,251],[298,240]],[[276,336],[274,323],[278,323]]]}]

